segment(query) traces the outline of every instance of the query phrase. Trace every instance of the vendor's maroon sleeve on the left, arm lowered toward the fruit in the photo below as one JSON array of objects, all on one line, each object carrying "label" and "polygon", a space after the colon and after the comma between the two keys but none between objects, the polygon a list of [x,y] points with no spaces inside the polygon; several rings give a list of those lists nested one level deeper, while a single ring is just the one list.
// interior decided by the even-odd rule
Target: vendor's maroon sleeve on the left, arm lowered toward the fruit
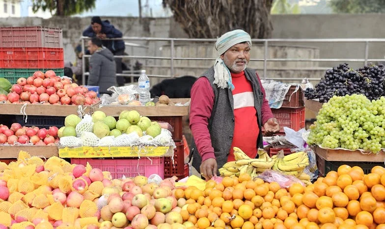
[{"label": "vendor's maroon sleeve on the left, arm lowered toward the fruit", "polygon": [[208,129],[214,106],[214,92],[206,77],[200,77],[191,89],[190,129],[202,161],[214,158],[214,148]]}]

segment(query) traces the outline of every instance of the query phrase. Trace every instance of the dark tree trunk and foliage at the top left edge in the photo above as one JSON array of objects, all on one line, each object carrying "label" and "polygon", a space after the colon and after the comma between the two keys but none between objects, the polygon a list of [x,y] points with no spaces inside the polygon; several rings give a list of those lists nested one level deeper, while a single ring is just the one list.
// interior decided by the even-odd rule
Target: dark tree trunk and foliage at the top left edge
[{"label": "dark tree trunk and foliage at the top left edge", "polygon": [[96,0],[32,0],[32,10],[49,10],[56,16],[71,16],[95,8]]}]

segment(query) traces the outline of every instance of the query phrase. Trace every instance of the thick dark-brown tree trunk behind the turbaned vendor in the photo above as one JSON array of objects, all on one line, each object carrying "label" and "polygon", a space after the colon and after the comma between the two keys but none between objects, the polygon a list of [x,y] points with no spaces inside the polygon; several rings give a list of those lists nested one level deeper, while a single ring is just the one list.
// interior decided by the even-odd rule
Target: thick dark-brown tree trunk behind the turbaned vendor
[{"label": "thick dark-brown tree trunk behind the turbaned vendor", "polygon": [[251,38],[271,38],[273,0],[163,0],[190,38],[217,38],[244,29]]}]

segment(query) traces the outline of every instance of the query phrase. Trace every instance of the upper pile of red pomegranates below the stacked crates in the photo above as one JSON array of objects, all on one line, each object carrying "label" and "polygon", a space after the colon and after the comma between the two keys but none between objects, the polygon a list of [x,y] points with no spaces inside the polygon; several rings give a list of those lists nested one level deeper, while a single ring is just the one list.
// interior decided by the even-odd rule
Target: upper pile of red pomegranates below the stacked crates
[{"label": "upper pile of red pomegranates below the stacked crates", "polygon": [[10,93],[0,94],[0,102],[14,104],[92,105],[99,102],[96,92],[56,76],[55,71],[35,71],[32,76],[19,78]]}]

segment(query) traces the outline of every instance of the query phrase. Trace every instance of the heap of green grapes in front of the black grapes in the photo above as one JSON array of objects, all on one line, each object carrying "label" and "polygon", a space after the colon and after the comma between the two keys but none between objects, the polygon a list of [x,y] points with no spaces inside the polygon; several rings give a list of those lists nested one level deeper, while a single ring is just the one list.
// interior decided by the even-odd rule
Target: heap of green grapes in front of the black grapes
[{"label": "heap of green grapes in front of the black grapes", "polygon": [[370,101],[363,94],[333,96],[310,126],[307,143],[377,153],[385,148],[384,116],[385,97]]}]

